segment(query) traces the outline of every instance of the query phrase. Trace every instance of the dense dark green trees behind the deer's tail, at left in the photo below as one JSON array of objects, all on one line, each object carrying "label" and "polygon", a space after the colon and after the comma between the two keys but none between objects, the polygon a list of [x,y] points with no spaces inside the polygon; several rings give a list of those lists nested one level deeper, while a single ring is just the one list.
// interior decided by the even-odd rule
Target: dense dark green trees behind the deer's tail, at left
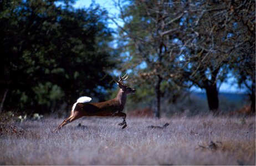
[{"label": "dense dark green trees behind the deer's tail, at left", "polygon": [[[107,12],[72,1],[0,1],[2,110],[49,113],[111,87]],[[100,79],[105,76],[105,79]]]}]

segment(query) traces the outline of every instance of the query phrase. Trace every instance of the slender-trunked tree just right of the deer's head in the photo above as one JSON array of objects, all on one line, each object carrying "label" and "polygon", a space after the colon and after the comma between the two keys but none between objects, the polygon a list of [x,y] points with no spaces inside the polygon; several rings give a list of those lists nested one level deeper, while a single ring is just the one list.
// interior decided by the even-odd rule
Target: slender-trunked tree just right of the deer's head
[{"label": "slender-trunked tree just right of the deer's head", "polygon": [[[180,30],[183,3],[169,5],[166,1],[127,1],[120,8],[120,48],[127,55],[126,70],[132,69],[139,84],[149,83],[155,89],[155,117],[160,117],[163,82],[171,82],[177,63],[175,35]],[[171,42],[170,42],[171,41]],[[174,46],[174,48],[170,48]],[[172,72],[173,71],[173,72]],[[173,84],[168,84],[169,86]],[[175,85],[176,86],[176,85]]]}]

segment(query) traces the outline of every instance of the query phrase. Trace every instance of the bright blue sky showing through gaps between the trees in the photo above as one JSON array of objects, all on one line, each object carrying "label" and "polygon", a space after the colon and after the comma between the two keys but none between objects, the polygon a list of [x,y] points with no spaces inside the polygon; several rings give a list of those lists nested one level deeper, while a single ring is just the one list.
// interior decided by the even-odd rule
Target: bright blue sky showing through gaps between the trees
[{"label": "bright blue sky showing through gaps between the trees", "polygon": [[[78,0],[74,4],[75,8],[87,8],[90,6],[92,0]],[[101,7],[104,7],[110,15],[117,15],[119,14],[119,10],[115,7],[113,0],[95,0],[95,3],[100,4]],[[118,22],[120,26],[122,26],[121,22]],[[110,21],[109,24],[110,28],[117,28],[117,26]],[[232,76],[229,76],[229,79],[227,82],[223,82],[219,87],[219,92],[227,92],[227,93],[244,93],[246,92],[245,89],[239,89],[238,85],[235,82],[235,78]],[[196,92],[204,92],[204,90],[199,89],[196,86],[193,86],[191,88],[191,91]]]}]

